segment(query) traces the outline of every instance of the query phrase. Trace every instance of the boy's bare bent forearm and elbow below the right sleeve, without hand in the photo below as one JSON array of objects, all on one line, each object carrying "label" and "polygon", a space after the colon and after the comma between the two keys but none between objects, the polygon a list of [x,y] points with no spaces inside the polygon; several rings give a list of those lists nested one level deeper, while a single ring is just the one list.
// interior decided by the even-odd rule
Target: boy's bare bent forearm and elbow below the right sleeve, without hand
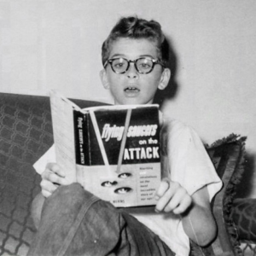
[{"label": "boy's bare bent forearm and elbow below the right sleeve, without hand", "polygon": [[192,204],[182,214],[183,230],[199,246],[207,246],[217,234],[217,224],[213,218],[207,187],[196,191]]}]

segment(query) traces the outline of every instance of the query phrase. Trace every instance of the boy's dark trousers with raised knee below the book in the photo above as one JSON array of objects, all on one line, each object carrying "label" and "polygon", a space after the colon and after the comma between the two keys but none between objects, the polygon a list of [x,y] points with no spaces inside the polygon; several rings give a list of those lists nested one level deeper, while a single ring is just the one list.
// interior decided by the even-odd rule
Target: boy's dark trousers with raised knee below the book
[{"label": "boy's dark trousers with raised knee below the book", "polygon": [[61,186],[44,202],[28,256],[171,256],[169,247],[128,213],[85,191]]}]

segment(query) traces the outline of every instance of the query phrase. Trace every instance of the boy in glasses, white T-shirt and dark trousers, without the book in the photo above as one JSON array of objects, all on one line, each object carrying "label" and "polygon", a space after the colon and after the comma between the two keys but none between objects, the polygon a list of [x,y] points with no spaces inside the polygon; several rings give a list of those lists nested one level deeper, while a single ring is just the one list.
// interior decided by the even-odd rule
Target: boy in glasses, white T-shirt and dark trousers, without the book
[{"label": "boy in glasses, white T-shirt and dark trousers, without the book", "polygon": [[[171,71],[165,46],[154,20],[119,20],[102,45],[100,73],[115,104],[150,104],[156,90],[166,88]],[[189,255],[189,239],[200,246],[211,242],[216,224],[210,201],[221,181],[195,131],[164,120],[161,137],[163,179],[153,209],[115,209],[79,184],[67,185],[65,173],[48,164],[42,194],[33,202],[34,220],[40,224],[29,255],[184,256]]]}]

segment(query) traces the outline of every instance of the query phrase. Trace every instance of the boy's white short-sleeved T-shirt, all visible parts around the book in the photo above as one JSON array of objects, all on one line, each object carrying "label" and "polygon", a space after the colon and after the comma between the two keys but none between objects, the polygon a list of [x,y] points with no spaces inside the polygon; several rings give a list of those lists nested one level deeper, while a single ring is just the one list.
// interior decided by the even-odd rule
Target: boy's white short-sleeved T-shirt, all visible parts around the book
[{"label": "boy's white short-sleeved T-shirt, all visible parts around the book", "polygon": [[[167,126],[166,126],[167,125]],[[166,148],[167,156],[163,156],[163,177],[180,183],[189,195],[207,186],[209,199],[222,187],[222,182],[212,166],[207,151],[195,131],[180,121],[165,120],[162,132],[162,147]],[[48,162],[55,162],[55,148],[49,148],[34,165],[36,171],[44,172]],[[183,230],[181,218],[172,213],[156,213],[154,207],[126,209],[150,230],[160,236],[177,256],[189,255],[189,237]]]}]

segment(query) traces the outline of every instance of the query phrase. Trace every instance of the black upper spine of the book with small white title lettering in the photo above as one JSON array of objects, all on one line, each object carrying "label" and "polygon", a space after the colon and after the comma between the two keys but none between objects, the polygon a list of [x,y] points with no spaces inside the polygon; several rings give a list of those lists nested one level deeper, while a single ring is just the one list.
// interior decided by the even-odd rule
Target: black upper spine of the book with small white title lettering
[{"label": "black upper spine of the book with small white title lettering", "polygon": [[88,116],[80,111],[73,111],[76,163],[88,166],[90,163]]}]

